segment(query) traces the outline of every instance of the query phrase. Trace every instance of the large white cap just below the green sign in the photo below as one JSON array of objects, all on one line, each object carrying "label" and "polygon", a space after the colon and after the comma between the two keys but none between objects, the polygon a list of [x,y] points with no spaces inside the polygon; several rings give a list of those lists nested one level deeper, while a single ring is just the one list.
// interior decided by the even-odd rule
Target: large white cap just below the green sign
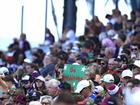
[{"label": "large white cap just below the green sign", "polygon": [[81,80],[76,87],[75,93],[80,93],[84,88],[90,86],[90,82],[88,80]]}]

